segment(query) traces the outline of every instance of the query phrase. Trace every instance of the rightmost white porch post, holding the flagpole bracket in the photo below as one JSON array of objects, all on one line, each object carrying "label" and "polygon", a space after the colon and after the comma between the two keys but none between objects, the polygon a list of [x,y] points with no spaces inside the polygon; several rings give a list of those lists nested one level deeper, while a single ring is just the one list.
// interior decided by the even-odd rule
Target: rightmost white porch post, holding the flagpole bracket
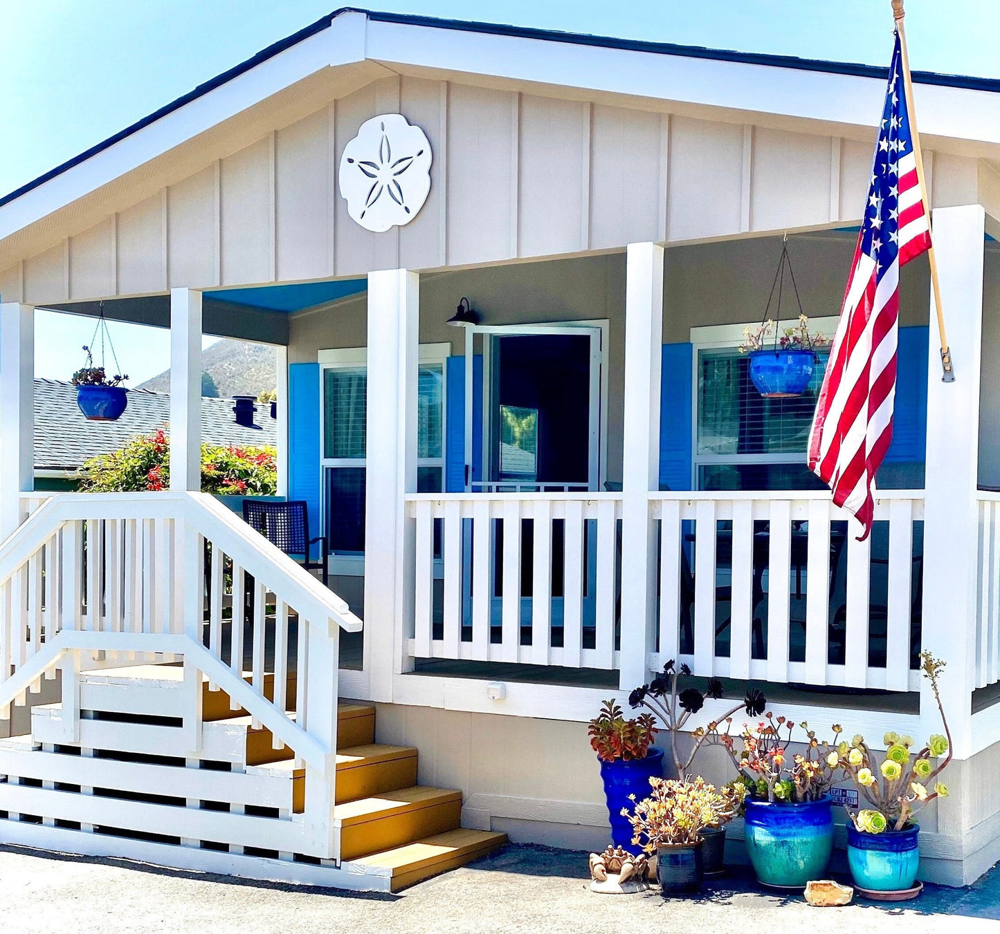
[{"label": "rightmost white porch post, holding the flagpole bracket", "polygon": [[[937,316],[931,299],[924,503],[923,647],[948,663],[941,695],[955,744],[968,755],[976,639],[980,341],[985,213],[979,205],[939,208],[934,249],[955,361],[941,382]],[[921,735],[941,732],[934,697],[921,687]]]}]

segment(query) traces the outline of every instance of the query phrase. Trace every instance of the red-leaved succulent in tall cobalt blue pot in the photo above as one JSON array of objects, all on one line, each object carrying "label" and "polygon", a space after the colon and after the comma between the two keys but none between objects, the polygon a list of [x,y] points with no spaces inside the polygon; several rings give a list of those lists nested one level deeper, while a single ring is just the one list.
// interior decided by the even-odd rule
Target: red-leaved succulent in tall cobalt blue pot
[{"label": "red-leaved succulent in tall cobalt blue pot", "polygon": [[605,700],[587,732],[601,763],[611,840],[638,855],[642,850],[632,843],[632,825],[625,812],[636,797],[648,793],[651,778],[663,775],[663,750],[652,745],[657,733],[653,717],[644,713],[626,720],[614,700]]}]

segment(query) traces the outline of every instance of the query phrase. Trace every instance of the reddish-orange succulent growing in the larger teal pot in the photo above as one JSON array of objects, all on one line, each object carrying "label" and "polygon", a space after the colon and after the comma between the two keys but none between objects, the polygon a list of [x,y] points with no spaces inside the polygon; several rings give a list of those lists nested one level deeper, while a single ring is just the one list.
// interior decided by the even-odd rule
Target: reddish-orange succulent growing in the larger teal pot
[{"label": "reddish-orange succulent growing in the larger teal pot", "polygon": [[[764,714],[756,726],[743,724],[739,734],[741,746],[736,747],[727,721],[725,732],[716,731],[714,741],[729,753],[736,766],[739,780],[748,792],[763,801],[785,801],[800,804],[818,801],[838,777],[839,756],[829,742],[818,739],[808,723],[799,724],[805,731],[805,752],[790,752],[795,722],[771,711]],[[833,724],[835,735],[841,727]]]}]

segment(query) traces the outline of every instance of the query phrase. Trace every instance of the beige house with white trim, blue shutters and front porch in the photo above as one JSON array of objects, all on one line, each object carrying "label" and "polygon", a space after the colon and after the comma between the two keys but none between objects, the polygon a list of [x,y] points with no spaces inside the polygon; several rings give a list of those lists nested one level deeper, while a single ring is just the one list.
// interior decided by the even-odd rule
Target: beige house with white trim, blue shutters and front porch
[{"label": "beige house with white trim, blue shutters and front porch", "polygon": [[[383,889],[593,848],[585,722],[666,659],[877,743],[940,731],[923,648],[922,874],[984,872],[1000,83],[915,75],[956,380],[915,262],[869,540],[804,466],[815,383],[765,405],[737,353],[786,233],[832,330],[885,77],[342,10],[0,199],[0,839]],[[33,489],[33,309],[101,302],[171,329],[169,492]],[[203,333],[277,348],[330,589],[196,491]]]}]

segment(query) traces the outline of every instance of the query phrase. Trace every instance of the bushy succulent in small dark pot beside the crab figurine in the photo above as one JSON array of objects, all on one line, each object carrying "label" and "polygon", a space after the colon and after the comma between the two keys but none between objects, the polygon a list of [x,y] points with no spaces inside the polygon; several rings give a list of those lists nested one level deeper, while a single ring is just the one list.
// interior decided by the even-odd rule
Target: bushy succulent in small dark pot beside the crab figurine
[{"label": "bushy succulent in small dark pot beside the crab figurine", "polygon": [[632,825],[634,845],[656,854],[656,877],[664,896],[697,892],[705,878],[705,830],[733,814],[745,789],[716,789],[700,776],[685,781],[650,779],[649,795],[622,810]]}]

